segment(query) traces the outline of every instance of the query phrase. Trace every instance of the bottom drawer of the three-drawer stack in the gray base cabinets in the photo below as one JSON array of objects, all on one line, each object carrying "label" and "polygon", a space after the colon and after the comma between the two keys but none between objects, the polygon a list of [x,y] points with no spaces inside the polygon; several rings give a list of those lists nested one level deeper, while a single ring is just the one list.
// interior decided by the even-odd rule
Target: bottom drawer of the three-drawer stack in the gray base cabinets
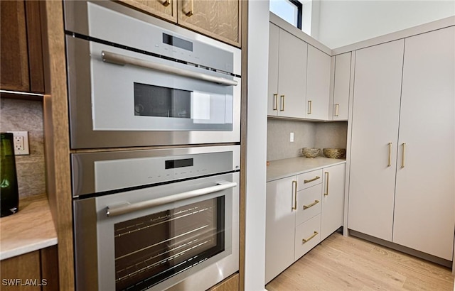
[{"label": "bottom drawer of the three-drawer stack in the gray base cabinets", "polygon": [[294,260],[314,248],[321,241],[321,214],[296,227]]}]

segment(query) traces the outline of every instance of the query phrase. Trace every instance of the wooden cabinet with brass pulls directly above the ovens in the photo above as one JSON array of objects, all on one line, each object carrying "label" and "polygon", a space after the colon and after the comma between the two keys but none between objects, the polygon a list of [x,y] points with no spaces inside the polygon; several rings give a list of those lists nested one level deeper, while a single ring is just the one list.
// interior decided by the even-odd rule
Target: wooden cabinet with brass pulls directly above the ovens
[{"label": "wooden cabinet with brass pulls directly above the ovens", "polygon": [[120,0],[137,10],[164,18],[240,48],[240,0]]}]

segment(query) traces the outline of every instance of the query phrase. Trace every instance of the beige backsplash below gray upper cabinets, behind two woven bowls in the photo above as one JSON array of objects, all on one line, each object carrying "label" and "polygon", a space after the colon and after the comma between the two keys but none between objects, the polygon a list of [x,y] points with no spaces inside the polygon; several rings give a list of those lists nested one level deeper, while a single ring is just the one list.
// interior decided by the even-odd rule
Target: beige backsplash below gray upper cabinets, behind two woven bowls
[{"label": "beige backsplash below gray upper cabinets, behind two woven bowls", "polygon": [[[289,141],[291,132],[293,143]],[[347,135],[347,122],[268,119],[267,160],[299,157],[301,148],[346,148]]]}]

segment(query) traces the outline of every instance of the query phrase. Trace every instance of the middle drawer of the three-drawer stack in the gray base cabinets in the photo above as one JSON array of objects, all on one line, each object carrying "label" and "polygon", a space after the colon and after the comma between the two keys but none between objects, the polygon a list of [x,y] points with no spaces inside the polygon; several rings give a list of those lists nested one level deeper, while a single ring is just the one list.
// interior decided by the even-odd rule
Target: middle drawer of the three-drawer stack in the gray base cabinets
[{"label": "middle drawer of the three-drawer stack in the gray base cabinets", "polygon": [[297,192],[296,226],[321,213],[322,184]]}]

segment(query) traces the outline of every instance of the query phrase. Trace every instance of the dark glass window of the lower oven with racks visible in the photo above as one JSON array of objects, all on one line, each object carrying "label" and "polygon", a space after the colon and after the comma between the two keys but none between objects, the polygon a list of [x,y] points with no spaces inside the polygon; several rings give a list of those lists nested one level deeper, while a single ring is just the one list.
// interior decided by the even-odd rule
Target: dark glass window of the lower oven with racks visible
[{"label": "dark glass window of the lower oven with racks visible", "polygon": [[225,197],[114,225],[116,290],[146,290],[225,249]]}]

